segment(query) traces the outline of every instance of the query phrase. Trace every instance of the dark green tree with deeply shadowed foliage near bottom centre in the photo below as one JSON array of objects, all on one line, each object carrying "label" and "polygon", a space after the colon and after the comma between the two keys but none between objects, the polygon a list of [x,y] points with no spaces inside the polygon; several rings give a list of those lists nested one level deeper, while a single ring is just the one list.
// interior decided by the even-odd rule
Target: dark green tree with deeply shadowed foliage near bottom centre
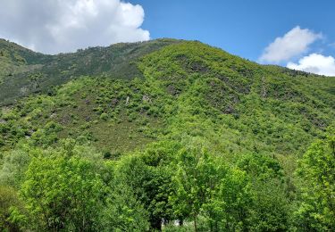
[{"label": "dark green tree with deeply shadowed foliage near bottom centre", "polygon": [[169,196],[172,194],[172,157],[180,144],[165,140],[149,145],[142,153],[123,156],[115,178],[132,189],[148,213],[150,228],[160,230],[162,220],[174,219]]}]

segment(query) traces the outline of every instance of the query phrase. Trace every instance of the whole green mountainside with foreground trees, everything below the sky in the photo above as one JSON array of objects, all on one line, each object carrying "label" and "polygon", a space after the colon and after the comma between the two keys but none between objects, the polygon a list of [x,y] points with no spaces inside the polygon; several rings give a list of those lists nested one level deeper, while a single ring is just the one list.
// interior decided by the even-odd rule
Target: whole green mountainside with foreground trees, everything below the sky
[{"label": "whole green mountainside with foreground trees, everything below the sky", "polygon": [[335,78],[173,39],[0,45],[1,229],[335,230]]}]

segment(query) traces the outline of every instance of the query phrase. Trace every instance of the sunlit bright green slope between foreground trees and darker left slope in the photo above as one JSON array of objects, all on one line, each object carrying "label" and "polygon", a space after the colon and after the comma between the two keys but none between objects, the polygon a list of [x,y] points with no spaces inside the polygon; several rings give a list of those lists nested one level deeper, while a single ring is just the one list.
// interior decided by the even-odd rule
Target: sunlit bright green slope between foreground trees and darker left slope
[{"label": "sunlit bright green slope between foreground trees and darker left slope", "polygon": [[192,136],[205,137],[217,153],[301,154],[335,118],[335,79],[262,66],[198,42],[166,46],[132,65],[138,71],[127,78],[71,80],[4,110],[3,144],[54,135],[37,143],[74,137],[118,153]]}]

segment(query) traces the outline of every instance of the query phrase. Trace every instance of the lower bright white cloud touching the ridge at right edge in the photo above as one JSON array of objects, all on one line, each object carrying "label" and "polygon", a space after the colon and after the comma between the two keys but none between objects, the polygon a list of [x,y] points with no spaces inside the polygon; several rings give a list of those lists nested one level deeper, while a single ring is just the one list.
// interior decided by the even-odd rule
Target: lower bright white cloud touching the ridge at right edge
[{"label": "lower bright white cloud touching the ridge at right edge", "polygon": [[287,67],[293,70],[304,70],[325,76],[335,77],[335,59],[322,54],[309,54],[298,63],[289,62]]}]

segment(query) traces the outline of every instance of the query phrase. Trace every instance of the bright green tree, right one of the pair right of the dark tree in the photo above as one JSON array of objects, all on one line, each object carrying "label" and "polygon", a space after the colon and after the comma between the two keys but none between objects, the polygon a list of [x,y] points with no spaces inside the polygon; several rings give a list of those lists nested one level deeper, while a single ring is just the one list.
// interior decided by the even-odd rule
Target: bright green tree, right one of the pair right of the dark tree
[{"label": "bright green tree, right one of the pair right of the dark tree", "polygon": [[203,206],[210,231],[246,231],[253,195],[246,172],[227,170],[214,194]]}]

